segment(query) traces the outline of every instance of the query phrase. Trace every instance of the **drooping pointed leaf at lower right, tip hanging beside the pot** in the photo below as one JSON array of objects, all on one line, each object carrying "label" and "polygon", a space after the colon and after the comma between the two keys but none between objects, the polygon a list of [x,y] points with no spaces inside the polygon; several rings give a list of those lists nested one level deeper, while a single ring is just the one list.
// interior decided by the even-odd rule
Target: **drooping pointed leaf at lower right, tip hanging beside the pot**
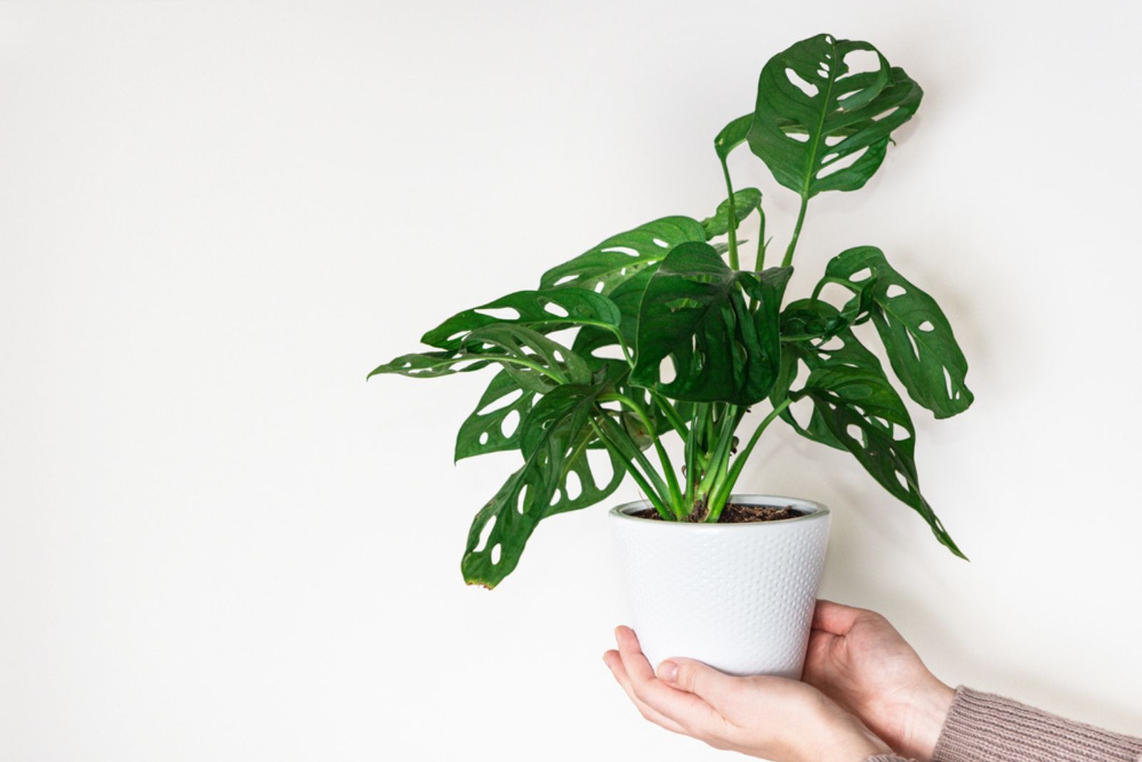
[{"label": "drooping pointed leaf at lower right, tip hanging beside the pot", "polygon": [[883,373],[849,366],[822,367],[810,373],[803,391],[790,396],[810,397],[829,432],[872,478],[919,513],[942,545],[967,558],[920,494],[915,461],[916,429]]}]

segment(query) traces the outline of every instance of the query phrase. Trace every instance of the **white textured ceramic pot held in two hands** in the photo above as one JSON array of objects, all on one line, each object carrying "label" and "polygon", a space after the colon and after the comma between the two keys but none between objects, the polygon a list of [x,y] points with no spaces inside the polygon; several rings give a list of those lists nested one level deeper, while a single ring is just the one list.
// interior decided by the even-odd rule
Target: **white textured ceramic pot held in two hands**
[{"label": "white textured ceramic pot held in two hands", "polygon": [[773,495],[747,505],[803,514],[756,524],[684,524],[611,509],[632,626],[651,665],[685,656],[731,674],[801,678],[829,542],[829,509]]}]

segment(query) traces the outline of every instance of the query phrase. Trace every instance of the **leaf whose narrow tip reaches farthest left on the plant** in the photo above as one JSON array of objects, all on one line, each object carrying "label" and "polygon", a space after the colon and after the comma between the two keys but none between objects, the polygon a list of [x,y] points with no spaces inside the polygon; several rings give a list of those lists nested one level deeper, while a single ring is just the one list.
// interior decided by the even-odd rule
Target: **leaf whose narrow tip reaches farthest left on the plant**
[{"label": "leaf whose narrow tip reaches farthest left on the plant", "polygon": [[560,383],[587,383],[590,368],[581,357],[523,325],[492,324],[468,333],[457,351],[401,355],[375,368],[368,378],[399,373],[436,378],[476,371],[498,363],[524,389],[545,394]]}]

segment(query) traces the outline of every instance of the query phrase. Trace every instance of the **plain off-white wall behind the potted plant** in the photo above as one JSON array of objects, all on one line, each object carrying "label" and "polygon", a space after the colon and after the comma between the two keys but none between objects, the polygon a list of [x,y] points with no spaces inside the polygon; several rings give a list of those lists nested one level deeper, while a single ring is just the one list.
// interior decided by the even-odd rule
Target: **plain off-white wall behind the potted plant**
[{"label": "plain off-white wall behind the potted plant", "polygon": [[[604,506],[463,584],[514,468],[451,462],[486,376],[364,376],[708,214],[714,135],[826,31],[926,95],[791,291],[872,243],[943,306],[978,402],[915,408],[918,463],[973,560],[785,427],[741,486],[833,506],[822,593],[946,681],[1142,733],[1142,24],[1061,6],[0,6],[0,760],[717,759],[600,662]],[[783,246],[795,197],[733,169]]]}]

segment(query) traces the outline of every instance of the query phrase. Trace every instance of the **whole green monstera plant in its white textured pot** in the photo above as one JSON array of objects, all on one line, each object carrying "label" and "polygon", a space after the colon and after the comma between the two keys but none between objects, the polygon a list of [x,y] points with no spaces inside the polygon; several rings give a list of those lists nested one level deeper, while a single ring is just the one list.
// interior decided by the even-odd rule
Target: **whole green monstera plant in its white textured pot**
[{"label": "whole green monstera plant in its white textured pot", "polygon": [[[920,493],[908,410],[853,332],[871,322],[903,389],[946,418],[972,394],[943,313],[867,245],[830,259],[807,298],[786,294],[810,200],[862,187],[922,95],[867,42],[819,34],[795,43],[762,70],[755,110],[714,140],[727,197],[713,216],[664,217],[606,238],[548,269],[537,289],[453,315],[424,334],[432,349],[369,374],[496,371],[460,424],[456,459],[516,449],[522,463],[472,524],[461,561],[468,583],[493,587],[542,519],[604,501],[629,476],[644,500],[611,513],[648,656],[798,675],[828,510],[734,494],[778,419],[852,453],[963,557]],[[761,192],[731,183],[726,157],[743,144],[801,197],[780,259]],[[755,261],[743,267],[739,228],[751,214]],[[826,301],[828,284],[851,298]],[[789,407],[801,399],[812,413],[798,422]],[[739,433],[762,405],[767,413]],[[674,435],[678,462],[664,446]],[[593,452],[609,456],[606,478],[595,478]]]}]

